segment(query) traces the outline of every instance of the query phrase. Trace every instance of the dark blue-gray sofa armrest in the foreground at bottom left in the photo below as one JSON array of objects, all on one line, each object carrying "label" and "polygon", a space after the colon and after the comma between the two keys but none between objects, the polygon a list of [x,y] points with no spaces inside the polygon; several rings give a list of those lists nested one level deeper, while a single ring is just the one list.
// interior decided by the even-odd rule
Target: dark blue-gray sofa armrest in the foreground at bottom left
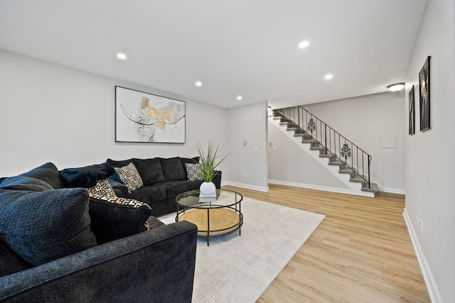
[{"label": "dark blue-gray sofa armrest in the foreground at bottom left", "polygon": [[197,228],[159,226],[0,277],[1,302],[191,302]]}]

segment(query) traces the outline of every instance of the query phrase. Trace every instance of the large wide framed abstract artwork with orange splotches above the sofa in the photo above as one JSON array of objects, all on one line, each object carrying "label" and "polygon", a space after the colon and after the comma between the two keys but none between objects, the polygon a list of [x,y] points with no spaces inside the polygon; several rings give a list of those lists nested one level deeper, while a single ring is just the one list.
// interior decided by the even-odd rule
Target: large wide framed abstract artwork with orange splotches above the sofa
[{"label": "large wide framed abstract artwork with orange splotches above the sofa", "polygon": [[115,141],[185,143],[185,102],[115,87]]}]

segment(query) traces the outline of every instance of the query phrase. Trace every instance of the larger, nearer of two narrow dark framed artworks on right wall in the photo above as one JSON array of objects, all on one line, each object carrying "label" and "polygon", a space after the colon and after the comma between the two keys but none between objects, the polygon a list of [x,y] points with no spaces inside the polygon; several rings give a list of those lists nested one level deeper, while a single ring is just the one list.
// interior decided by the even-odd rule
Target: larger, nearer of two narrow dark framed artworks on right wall
[{"label": "larger, nearer of two narrow dark framed artworks on right wall", "polygon": [[425,60],[422,70],[419,72],[419,98],[420,98],[420,131],[427,131],[430,126],[430,56]]}]

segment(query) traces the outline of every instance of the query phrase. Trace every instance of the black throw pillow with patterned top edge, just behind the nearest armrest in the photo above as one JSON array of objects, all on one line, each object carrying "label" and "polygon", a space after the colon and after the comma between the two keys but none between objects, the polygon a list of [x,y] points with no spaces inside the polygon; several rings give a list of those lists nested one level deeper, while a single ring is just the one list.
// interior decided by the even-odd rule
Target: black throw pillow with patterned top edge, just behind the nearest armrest
[{"label": "black throw pillow with patterned top edge, just behind the nearest armrest", "polygon": [[134,199],[92,194],[89,212],[92,231],[100,244],[149,230],[151,208]]}]

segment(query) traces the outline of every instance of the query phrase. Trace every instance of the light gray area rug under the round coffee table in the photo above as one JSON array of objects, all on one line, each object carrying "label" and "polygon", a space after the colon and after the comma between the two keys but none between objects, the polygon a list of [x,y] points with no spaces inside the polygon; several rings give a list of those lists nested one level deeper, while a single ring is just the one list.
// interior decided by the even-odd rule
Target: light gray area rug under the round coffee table
[{"label": "light gray area rug under the round coffee table", "polygon": [[325,217],[245,197],[242,214],[242,236],[198,238],[192,302],[256,302]]}]

